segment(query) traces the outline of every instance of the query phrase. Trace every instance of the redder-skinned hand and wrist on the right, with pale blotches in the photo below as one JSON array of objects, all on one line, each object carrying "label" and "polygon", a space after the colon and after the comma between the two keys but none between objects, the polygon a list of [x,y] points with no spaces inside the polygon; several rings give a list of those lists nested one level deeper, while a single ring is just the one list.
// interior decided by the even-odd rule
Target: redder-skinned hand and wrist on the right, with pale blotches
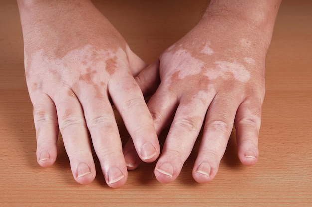
[{"label": "redder-skinned hand and wrist on the right, with pale blotches", "polygon": [[[201,21],[136,77],[145,93],[156,90],[147,105],[157,134],[171,123],[154,171],[160,182],[178,177],[202,127],[197,182],[216,176],[234,125],[240,161],[257,162],[265,56],[279,4],[211,0]],[[132,141],[124,154],[128,169],[140,164]]]}]

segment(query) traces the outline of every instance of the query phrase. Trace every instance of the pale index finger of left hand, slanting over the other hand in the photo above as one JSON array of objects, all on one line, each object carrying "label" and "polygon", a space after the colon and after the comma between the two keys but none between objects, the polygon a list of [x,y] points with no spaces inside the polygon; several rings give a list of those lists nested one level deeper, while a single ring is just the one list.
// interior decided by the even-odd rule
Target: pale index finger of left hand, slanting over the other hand
[{"label": "pale index finger of left hand, slanting over the other hand", "polygon": [[145,162],[153,162],[160,152],[153,119],[143,94],[133,77],[126,74],[108,85],[112,100],[133,139],[136,151]]}]

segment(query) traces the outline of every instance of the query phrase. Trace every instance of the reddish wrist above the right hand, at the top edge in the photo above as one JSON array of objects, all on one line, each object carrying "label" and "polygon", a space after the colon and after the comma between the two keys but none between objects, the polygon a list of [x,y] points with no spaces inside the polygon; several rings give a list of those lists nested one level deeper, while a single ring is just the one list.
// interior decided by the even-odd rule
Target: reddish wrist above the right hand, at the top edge
[{"label": "reddish wrist above the right hand, at the top edge", "polygon": [[263,39],[268,47],[280,1],[211,0],[200,23],[216,22],[215,26],[250,33]]}]

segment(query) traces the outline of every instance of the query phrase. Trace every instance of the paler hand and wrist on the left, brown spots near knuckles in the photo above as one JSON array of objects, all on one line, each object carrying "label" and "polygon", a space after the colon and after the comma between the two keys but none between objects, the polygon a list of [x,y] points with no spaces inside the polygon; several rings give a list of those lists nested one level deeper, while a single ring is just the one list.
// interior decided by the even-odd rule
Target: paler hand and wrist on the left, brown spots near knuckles
[{"label": "paler hand and wrist on the left, brown spots near knuckles", "polygon": [[38,163],[54,163],[59,128],[77,182],[95,178],[93,144],[107,184],[123,185],[127,167],[110,97],[139,157],[152,162],[160,151],[153,119],[133,78],[145,63],[88,0],[19,1],[19,8]]}]

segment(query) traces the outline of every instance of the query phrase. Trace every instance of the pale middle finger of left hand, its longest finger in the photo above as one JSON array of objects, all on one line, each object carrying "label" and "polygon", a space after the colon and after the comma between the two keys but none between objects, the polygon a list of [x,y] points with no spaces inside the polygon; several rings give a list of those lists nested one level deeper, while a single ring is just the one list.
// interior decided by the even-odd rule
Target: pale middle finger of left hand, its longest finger
[{"label": "pale middle finger of left hand, its longest finger", "polygon": [[113,188],[120,187],[127,181],[128,172],[107,87],[89,84],[81,87],[84,91],[79,99],[106,183]]}]

